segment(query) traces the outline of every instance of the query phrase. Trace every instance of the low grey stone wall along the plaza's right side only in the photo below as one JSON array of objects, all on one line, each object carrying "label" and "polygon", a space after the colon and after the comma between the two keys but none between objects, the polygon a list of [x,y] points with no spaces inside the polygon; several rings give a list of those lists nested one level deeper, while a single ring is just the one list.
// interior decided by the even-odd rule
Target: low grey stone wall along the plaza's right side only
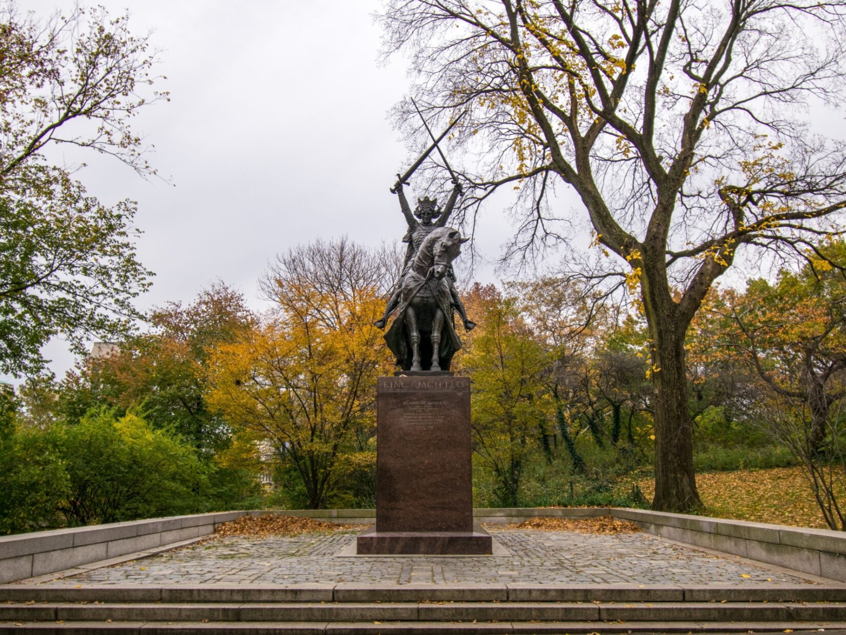
[{"label": "low grey stone wall along the plaza's right side only", "polygon": [[656,536],[846,582],[846,532],[661,511],[611,509],[609,512],[615,518],[637,523]]}]

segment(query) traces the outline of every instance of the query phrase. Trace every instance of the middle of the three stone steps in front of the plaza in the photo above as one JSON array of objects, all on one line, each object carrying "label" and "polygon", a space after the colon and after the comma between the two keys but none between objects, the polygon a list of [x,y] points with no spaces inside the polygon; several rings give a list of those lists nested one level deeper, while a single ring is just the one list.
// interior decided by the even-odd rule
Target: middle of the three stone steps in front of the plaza
[{"label": "middle of the three stone steps in front of the plaza", "polygon": [[3,604],[0,621],[846,621],[846,604],[250,602]]}]

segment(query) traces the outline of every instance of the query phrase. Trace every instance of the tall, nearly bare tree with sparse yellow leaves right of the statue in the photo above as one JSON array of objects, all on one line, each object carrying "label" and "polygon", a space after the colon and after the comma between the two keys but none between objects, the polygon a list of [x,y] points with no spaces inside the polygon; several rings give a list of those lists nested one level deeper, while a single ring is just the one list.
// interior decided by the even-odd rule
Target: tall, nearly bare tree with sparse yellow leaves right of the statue
[{"label": "tall, nearly bare tree with sparse yellow leaves right of the statue", "polygon": [[[566,241],[554,196],[572,187],[608,255],[591,276],[624,280],[645,314],[654,509],[700,506],[684,337],[711,284],[741,246],[804,254],[839,233],[846,154],[808,119],[842,100],[844,14],[841,0],[391,0],[382,15],[417,102],[469,111],[465,217],[519,189],[511,253],[530,255]],[[422,143],[410,106],[401,125]]]}]

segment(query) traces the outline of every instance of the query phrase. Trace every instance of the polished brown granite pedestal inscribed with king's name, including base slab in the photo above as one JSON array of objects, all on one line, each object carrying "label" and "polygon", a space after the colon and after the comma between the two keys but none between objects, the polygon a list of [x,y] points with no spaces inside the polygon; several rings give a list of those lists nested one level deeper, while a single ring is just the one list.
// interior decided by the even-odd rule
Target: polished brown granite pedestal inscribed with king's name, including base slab
[{"label": "polished brown granite pedestal inscribed with king's name, including base slab", "polygon": [[470,378],[380,377],[376,407],[376,527],[358,553],[492,553],[473,526]]}]

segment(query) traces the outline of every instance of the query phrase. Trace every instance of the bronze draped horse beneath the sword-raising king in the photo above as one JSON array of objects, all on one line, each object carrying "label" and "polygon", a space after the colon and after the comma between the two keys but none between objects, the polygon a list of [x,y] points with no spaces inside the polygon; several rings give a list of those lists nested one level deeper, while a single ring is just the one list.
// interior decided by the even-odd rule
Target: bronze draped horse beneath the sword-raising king
[{"label": "bronze draped horse beneath the sword-raising king", "polygon": [[[404,370],[449,370],[453,355],[461,348],[453,326],[447,272],[461,253],[461,244],[468,240],[452,227],[432,229],[400,282],[399,314],[385,341]],[[421,348],[424,359],[431,356],[431,363],[420,363]]]}]

